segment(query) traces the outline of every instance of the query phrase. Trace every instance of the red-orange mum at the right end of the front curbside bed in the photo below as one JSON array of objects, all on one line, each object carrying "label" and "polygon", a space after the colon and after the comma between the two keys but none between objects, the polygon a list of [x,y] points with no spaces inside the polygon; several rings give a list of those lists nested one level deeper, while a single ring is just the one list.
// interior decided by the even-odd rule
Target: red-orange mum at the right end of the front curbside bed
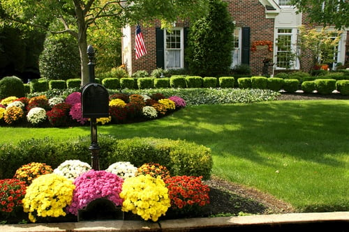
[{"label": "red-orange mum at the right end of the front curbside bed", "polygon": [[171,199],[171,208],[190,212],[209,204],[209,187],[201,181],[202,176],[172,176],[165,180]]}]

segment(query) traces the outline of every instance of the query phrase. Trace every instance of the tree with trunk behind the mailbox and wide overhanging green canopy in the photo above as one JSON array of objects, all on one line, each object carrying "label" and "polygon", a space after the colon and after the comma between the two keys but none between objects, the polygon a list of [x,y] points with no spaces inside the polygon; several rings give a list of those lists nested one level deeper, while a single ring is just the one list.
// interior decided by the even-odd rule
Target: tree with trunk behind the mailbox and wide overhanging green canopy
[{"label": "tree with trunk behind the mailbox and wide overhanging green canopy", "polygon": [[[126,24],[154,19],[174,22],[177,17],[195,17],[205,12],[207,0],[1,0],[1,24],[26,25],[28,29],[50,31],[52,22],[60,27],[51,33],[69,33],[77,40],[80,52],[82,85],[87,84],[87,33],[102,18],[112,18],[121,28]],[[188,10],[190,9],[190,10]]]}]

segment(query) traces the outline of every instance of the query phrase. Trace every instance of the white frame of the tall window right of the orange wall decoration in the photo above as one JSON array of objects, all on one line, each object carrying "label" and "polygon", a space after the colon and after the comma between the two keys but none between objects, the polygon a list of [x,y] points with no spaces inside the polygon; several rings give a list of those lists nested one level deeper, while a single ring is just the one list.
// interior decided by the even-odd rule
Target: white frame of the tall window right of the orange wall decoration
[{"label": "white frame of the tall window right of the orange wall decoration", "polygon": [[[290,29],[291,32],[290,33],[279,33],[279,29]],[[290,28],[290,27],[280,27],[280,28],[276,28],[275,29],[275,41],[274,41],[274,57],[275,57],[275,69],[276,70],[285,70],[286,68],[283,68],[283,67],[279,67],[278,66],[278,57],[277,57],[277,54],[278,54],[278,46],[277,46],[277,38],[279,38],[279,35],[290,35],[291,36],[291,51],[295,54],[298,53],[298,49],[297,49],[297,31],[298,29],[297,28]],[[293,61],[293,65],[289,68],[289,69],[299,69],[299,59],[295,59],[295,61]]]}]

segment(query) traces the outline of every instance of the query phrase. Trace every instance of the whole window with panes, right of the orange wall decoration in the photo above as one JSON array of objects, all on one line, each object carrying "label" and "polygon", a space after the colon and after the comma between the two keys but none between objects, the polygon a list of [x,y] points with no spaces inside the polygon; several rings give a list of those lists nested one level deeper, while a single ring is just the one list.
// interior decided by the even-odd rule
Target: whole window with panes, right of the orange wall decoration
[{"label": "whole window with panes, right of the orange wall decoration", "polygon": [[277,29],[276,68],[296,68],[296,29]]}]

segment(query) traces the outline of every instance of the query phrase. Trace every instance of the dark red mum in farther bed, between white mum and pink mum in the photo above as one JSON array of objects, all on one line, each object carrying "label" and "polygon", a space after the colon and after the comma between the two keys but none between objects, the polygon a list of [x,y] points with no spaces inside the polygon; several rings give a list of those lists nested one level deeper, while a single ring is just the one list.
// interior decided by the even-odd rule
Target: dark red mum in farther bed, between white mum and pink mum
[{"label": "dark red mum in farther bed, between white mum and pink mum", "polygon": [[50,111],[46,112],[48,121],[54,126],[66,124],[68,121],[69,109],[70,105],[65,102],[54,105]]}]

